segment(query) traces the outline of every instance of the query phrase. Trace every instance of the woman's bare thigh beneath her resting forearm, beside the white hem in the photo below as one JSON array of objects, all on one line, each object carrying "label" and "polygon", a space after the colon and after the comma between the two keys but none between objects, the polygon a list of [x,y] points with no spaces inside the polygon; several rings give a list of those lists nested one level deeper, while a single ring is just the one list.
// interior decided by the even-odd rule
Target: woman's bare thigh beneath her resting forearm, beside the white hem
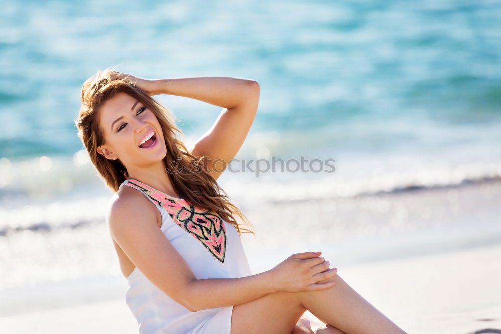
[{"label": "woman's bare thigh beneath her resting forearm, beside the white hem", "polygon": [[305,311],[298,293],[270,293],[233,306],[231,334],[290,334]]}]

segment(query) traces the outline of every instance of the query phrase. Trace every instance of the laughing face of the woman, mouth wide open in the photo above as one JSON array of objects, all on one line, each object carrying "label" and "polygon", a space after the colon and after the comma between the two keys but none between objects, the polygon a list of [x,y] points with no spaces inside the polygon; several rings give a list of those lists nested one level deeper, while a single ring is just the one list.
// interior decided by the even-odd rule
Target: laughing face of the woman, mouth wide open
[{"label": "laughing face of the woman, mouth wide open", "polygon": [[[107,100],[98,117],[106,143],[98,147],[98,153],[108,159],[120,159],[128,171],[161,161],[167,154],[155,114],[129,94],[120,92]],[[144,142],[151,133],[153,137]]]}]

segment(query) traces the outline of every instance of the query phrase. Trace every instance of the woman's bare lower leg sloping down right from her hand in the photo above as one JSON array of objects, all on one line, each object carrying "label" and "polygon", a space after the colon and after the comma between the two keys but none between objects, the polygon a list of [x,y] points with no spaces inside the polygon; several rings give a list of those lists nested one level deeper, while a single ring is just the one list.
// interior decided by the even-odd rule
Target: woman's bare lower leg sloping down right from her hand
[{"label": "woman's bare lower leg sloping down right from her hand", "polygon": [[406,334],[338,274],[331,280],[336,285],[329,289],[297,292],[303,306],[319,320],[347,334]]}]

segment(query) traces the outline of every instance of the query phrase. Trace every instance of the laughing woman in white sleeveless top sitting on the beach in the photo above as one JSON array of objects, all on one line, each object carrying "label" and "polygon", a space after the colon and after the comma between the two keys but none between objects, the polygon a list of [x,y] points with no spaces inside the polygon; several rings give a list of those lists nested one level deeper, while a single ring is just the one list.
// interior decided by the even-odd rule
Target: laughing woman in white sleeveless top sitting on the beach
[{"label": "laughing woman in white sleeveless top sitting on the beach", "polygon": [[[157,94],[224,109],[186,149],[172,113],[152,98]],[[240,236],[253,232],[237,222],[250,225],[216,180],[254,121],[257,82],[147,80],[106,69],[85,81],[81,98],[78,135],[115,192],[107,223],[141,334],[404,333],[320,252],[250,272]],[[306,310],[325,324],[312,323]]]}]

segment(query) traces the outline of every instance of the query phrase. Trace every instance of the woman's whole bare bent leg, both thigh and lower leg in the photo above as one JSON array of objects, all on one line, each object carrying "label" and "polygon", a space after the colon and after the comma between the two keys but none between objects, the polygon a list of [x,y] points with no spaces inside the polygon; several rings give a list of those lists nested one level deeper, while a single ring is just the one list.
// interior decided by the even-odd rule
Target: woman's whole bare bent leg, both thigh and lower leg
[{"label": "woman's whole bare bent leg, both thigh and lower leg", "polygon": [[[309,310],[330,325],[325,330],[336,334],[407,334],[362,298],[339,274],[331,279],[336,285],[329,289],[275,292],[235,305],[231,333],[290,334],[301,315]],[[332,331],[336,329],[339,332]]]}]

